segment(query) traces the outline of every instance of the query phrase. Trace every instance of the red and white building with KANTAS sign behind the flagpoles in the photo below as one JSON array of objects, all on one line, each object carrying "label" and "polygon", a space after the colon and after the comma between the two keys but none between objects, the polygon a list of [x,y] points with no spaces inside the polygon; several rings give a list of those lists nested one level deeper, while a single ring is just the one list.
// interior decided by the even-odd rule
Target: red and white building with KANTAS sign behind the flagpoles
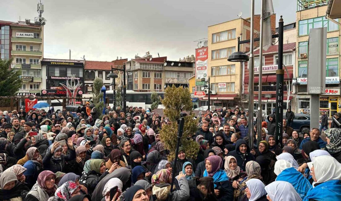
[{"label": "red and white building with KANTAS sign behind the flagpoles", "polygon": [[[283,44],[283,64],[284,79],[290,80],[295,77],[295,55],[296,55],[296,43]],[[258,81],[259,81],[259,48],[254,50],[254,110],[258,108]],[[262,73],[262,108],[265,115],[272,113],[272,109],[276,107],[276,70],[278,69],[278,45],[272,45],[268,50],[263,50],[263,73]],[[243,73],[242,73],[242,89],[243,94],[249,95],[249,62],[243,62]],[[290,80],[290,83],[292,81]],[[287,104],[290,104],[293,98],[293,88],[289,83],[283,85],[283,108],[286,110]],[[290,93],[288,89],[290,87]],[[289,95],[289,96],[288,96]]]}]

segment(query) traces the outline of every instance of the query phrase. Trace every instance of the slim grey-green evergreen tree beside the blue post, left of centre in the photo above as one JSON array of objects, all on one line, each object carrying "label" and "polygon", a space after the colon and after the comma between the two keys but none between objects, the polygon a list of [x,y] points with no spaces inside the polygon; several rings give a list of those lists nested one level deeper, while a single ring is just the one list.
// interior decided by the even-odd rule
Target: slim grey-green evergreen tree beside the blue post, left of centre
[{"label": "slim grey-green evergreen tree beside the blue post, left of centre", "polygon": [[99,117],[99,119],[102,119],[102,112],[104,109],[104,101],[103,101],[103,93],[101,92],[103,86],[103,80],[102,78],[95,78],[93,81],[93,103],[95,104],[95,108],[96,108],[96,113],[97,113],[97,117]]}]

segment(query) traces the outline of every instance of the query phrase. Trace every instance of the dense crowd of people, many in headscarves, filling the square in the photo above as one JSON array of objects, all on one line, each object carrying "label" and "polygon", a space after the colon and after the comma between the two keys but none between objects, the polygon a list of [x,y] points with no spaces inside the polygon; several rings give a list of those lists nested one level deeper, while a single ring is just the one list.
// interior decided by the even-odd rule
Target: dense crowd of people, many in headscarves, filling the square
[{"label": "dense crowd of people, many in headscarves, filling the square", "polygon": [[0,111],[0,200],[341,200],[339,128],[298,133],[288,110],[283,147],[273,114],[262,133],[255,124],[250,143],[248,111],[207,110],[188,136],[199,147],[196,158],[180,146],[175,163],[160,137],[173,122],[150,108],[126,111],[108,106],[97,119],[88,102],[75,114],[53,107]]}]

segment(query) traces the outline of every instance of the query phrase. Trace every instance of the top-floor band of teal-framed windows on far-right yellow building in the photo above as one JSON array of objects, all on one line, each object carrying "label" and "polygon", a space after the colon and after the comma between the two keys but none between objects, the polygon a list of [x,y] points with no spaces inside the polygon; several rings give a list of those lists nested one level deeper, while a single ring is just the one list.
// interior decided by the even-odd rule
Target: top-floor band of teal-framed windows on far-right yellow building
[{"label": "top-floor band of teal-framed windows on far-right yellow building", "polygon": [[[339,19],[335,19],[339,21]],[[313,28],[327,27],[327,31],[339,30],[339,26],[332,21],[325,19],[325,17],[316,17],[306,20],[300,20],[298,22],[298,35],[308,35],[309,30]]]}]

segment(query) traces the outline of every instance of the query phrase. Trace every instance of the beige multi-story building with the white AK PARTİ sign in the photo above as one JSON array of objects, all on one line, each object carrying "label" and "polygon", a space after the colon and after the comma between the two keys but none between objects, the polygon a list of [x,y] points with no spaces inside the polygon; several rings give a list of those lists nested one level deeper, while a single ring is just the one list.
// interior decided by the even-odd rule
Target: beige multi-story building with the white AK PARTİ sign
[{"label": "beige multi-story building with the white AK PART\u0130 sign", "polygon": [[21,69],[23,85],[17,95],[40,95],[44,26],[25,21],[0,21],[1,58],[13,57],[11,68]]}]

